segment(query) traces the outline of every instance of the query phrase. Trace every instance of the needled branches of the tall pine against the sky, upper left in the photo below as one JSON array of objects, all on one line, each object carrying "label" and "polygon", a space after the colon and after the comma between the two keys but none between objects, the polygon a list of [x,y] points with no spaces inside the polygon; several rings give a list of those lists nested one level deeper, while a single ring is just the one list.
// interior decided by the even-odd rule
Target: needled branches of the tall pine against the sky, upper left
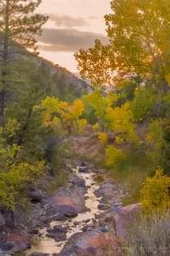
[{"label": "needled branches of the tall pine against the sky, upper left", "polygon": [[41,0],[2,1],[0,32],[1,38],[8,40],[8,46],[37,49],[34,35],[41,33],[42,25],[48,20],[48,17],[43,15],[33,15],[41,3]]}]

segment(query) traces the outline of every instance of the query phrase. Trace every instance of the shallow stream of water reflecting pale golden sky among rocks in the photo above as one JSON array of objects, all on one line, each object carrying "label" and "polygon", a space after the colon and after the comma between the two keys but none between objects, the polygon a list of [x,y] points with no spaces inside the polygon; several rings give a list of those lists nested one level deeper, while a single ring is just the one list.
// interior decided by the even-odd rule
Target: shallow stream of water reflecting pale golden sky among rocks
[{"label": "shallow stream of water reflecting pale golden sky among rocks", "polygon": [[54,228],[54,226],[57,225],[67,229],[66,241],[55,241],[54,238],[48,237],[47,228],[39,230],[37,236],[34,236],[31,249],[26,251],[26,255],[31,255],[31,253],[48,253],[49,255],[60,253],[72,235],[83,232],[83,227],[86,224],[97,222],[98,220],[95,218],[95,214],[104,212],[99,210],[98,206],[100,198],[96,197],[94,194],[94,192],[99,189],[99,184],[94,180],[95,173],[79,172],[78,170],[80,167],[81,169],[86,168],[77,166],[76,168],[72,168],[72,171],[76,172],[77,176],[85,182],[87,193],[84,196],[87,211],[79,213],[76,218],[69,218],[69,220],[66,221],[52,221],[50,223],[51,228]]}]

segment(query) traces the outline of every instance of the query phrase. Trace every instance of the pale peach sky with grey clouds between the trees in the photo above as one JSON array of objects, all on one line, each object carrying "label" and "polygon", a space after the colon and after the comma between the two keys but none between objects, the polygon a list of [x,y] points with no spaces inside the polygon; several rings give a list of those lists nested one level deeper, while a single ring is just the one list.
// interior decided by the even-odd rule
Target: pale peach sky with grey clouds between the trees
[{"label": "pale peach sky with grey clouds between the trees", "polygon": [[40,55],[77,72],[74,53],[94,46],[99,38],[107,43],[104,15],[111,13],[111,0],[42,0],[37,13],[48,15],[37,37]]}]

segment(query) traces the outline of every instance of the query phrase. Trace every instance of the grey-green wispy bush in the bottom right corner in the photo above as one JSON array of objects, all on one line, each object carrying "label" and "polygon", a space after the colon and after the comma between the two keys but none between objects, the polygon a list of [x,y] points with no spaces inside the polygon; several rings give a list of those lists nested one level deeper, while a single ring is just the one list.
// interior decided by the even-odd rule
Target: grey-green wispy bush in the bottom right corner
[{"label": "grey-green wispy bush in the bottom right corner", "polygon": [[169,255],[170,250],[170,210],[152,212],[150,217],[141,214],[133,219],[127,229],[127,247],[134,248],[135,256]]}]

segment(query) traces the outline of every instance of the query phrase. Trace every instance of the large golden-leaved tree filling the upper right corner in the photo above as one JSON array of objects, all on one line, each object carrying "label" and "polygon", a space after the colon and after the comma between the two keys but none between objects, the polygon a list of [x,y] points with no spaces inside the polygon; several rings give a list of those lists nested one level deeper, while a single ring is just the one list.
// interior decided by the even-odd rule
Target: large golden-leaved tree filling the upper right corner
[{"label": "large golden-leaved tree filling the upper right corner", "polygon": [[168,90],[169,9],[168,0],[112,1],[112,13],[105,15],[110,43],[96,40],[94,48],[75,55],[82,77],[99,86],[139,75]]}]

